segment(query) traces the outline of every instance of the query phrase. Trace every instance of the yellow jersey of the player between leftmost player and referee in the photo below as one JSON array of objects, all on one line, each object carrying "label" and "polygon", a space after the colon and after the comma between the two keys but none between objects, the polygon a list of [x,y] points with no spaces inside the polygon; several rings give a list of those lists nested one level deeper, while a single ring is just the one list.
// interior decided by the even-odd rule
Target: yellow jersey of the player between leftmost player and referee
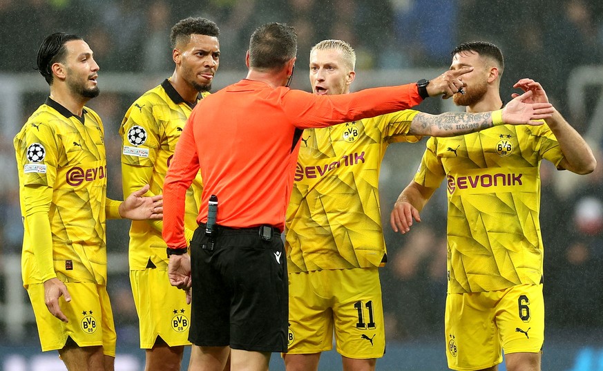
[{"label": "yellow jersey of the player between leftmost player and referee", "polygon": [[[209,93],[203,93],[202,96]],[[147,91],[126,112],[119,134],[122,135],[122,182],[128,195],[144,184],[150,193],[162,193],[163,183],[174,150],[193,106],[180,97],[166,79]],[[197,228],[201,199],[201,175],[186,193],[185,227],[189,237]],[[134,220],[130,228],[130,269],[166,267],[166,243],[162,238],[161,220]]]}]

